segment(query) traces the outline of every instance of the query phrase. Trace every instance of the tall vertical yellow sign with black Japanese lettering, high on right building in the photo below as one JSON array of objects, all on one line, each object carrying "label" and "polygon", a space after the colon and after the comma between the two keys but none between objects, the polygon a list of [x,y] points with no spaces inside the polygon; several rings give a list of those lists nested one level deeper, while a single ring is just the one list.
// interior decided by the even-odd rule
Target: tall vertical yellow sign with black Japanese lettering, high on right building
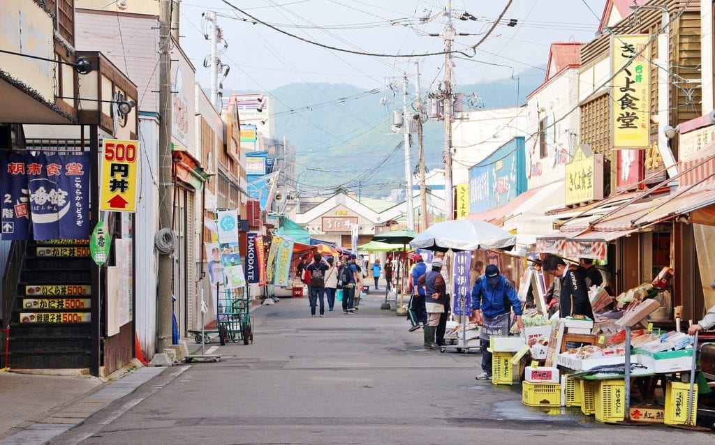
[{"label": "tall vertical yellow sign with black Japanese lettering, high on right building", "polygon": [[611,37],[613,148],[645,149],[650,138],[650,36]]}]

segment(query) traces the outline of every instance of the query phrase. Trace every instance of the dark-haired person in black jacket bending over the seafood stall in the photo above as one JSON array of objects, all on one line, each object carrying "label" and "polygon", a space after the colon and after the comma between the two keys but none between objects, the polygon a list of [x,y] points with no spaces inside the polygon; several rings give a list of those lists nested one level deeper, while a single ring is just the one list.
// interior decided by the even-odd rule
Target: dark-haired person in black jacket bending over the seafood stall
[{"label": "dark-haired person in black jacket bending over the seafood stall", "polygon": [[543,260],[543,271],[551,274],[554,279],[561,280],[558,304],[560,306],[559,316],[562,319],[577,315],[594,319],[591,301],[588,299],[586,276],[582,269],[579,269],[578,266],[566,266],[563,259],[556,255],[548,255]]}]

